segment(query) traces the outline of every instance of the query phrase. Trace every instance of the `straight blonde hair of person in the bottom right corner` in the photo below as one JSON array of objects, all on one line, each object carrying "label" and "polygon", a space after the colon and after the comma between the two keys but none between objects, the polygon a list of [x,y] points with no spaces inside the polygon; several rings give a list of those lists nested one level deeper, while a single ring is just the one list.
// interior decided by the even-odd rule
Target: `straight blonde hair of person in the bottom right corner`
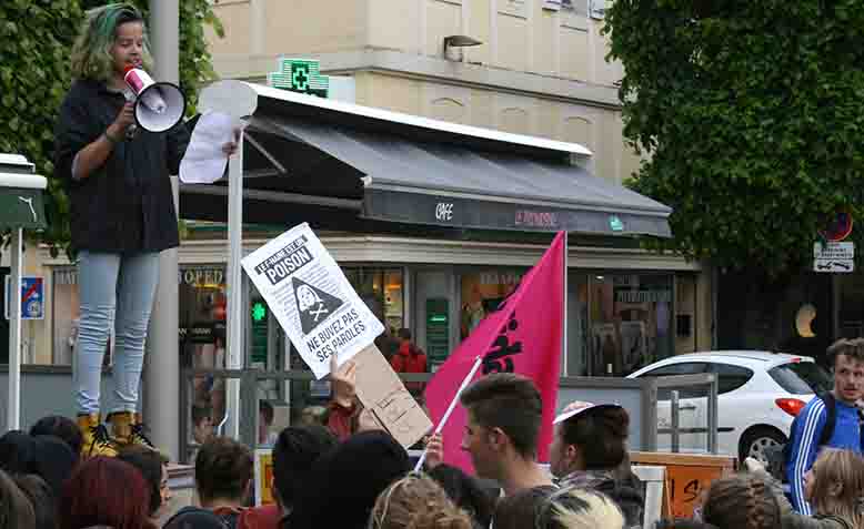
[{"label": "straight blonde hair of person in the bottom right corner", "polygon": [[841,517],[854,527],[864,529],[864,458],[852,450],[824,448],[813,464],[812,471],[813,492],[810,502],[815,511]]}]

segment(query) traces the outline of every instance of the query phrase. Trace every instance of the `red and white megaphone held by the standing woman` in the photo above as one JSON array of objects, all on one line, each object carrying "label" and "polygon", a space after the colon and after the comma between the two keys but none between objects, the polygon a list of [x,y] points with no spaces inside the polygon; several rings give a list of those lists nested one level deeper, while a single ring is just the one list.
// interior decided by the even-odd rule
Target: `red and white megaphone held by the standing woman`
[{"label": "red and white megaphone held by the standing woman", "polygon": [[123,80],[135,94],[135,122],[148,132],[164,132],[185,114],[185,96],[175,84],[155,82],[140,68],[127,67]]}]

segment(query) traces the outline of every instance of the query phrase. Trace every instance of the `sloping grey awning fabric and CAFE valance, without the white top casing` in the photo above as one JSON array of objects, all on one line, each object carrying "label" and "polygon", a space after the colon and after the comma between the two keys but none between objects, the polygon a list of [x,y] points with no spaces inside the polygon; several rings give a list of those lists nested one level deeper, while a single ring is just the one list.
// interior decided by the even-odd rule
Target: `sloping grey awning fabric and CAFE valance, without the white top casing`
[{"label": "sloping grey awning fabric and CAFE valance, without the white top casing", "polygon": [[368,177],[361,216],[480,230],[671,235],[671,210],[586,170],[307,120],[273,128]]}]

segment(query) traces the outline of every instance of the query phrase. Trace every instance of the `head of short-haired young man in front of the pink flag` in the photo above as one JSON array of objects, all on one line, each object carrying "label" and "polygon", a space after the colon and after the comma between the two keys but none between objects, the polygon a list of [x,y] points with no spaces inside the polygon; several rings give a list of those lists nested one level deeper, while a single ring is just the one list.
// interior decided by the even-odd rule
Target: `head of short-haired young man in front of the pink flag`
[{"label": "head of short-haired young man in front of the pink flag", "polygon": [[536,458],[543,404],[534,384],[520,375],[486,375],[460,397],[468,410],[462,449],[478,476],[501,480],[514,462]]}]

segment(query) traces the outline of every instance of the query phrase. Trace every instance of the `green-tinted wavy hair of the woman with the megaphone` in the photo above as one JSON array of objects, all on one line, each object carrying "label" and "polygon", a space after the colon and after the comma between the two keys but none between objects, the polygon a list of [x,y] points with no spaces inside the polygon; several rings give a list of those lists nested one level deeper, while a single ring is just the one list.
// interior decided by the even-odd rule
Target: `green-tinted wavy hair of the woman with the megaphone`
[{"label": "green-tinted wavy hair of the woman with the megaphone", "polygon": [[72,48],[72,78],[108,81],[113,75],[111,47],[117,39],[117,29],[128,22],[140,22],[144,27],[144,45],[141,53],[144,70],[152,70],[153,55],[147,35],[144,17],[128,3],[110,3],[87,12],[81,34]]}]

